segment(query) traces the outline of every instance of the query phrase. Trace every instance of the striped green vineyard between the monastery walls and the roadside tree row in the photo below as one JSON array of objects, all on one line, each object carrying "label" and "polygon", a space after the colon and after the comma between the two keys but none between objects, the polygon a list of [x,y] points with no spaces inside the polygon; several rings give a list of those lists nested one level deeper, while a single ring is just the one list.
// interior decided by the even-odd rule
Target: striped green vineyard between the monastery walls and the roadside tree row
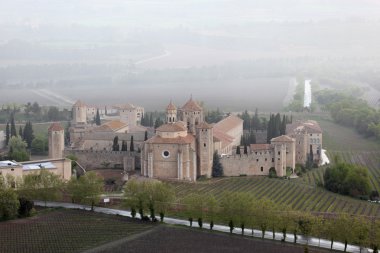
[{"label": "striped green vineyard between the monastery walls and the roadside tree row", "polygon": [[216,198],[220,198],[223,191],[249,192],[252,197],[266,197],[276,203],[290,205],[296,210],[380,216],[380,204],[344,197],[299,180],[234,177],[196,184],[181,182],[171,182],[171,184],[180,198],[192,192],[210,193]]}]

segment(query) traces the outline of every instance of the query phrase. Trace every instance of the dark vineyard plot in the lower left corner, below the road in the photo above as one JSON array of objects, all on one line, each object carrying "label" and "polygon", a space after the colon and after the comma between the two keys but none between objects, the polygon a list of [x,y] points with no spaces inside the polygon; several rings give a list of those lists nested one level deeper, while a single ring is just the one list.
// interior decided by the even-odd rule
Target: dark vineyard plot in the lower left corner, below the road
[{"label": "dark vineyard plot in the lower left corner, below the road", "polygon": [[55,210],[0,222],[0,252],[82,252],[153,226],[121,216]]}]

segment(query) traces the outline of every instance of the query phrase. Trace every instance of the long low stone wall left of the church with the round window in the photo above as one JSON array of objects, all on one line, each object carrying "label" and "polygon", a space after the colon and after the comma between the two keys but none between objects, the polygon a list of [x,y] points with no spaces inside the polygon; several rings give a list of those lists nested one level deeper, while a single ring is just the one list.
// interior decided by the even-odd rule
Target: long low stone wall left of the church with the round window
[{"label": "long low stone wall left of the church with the round window", "polygon": [[65,150],[65,156],[67,155],[77,157],[78,163],[86,170],[119,168],[131,171],[140,168],[140,154],[137,152]]}]

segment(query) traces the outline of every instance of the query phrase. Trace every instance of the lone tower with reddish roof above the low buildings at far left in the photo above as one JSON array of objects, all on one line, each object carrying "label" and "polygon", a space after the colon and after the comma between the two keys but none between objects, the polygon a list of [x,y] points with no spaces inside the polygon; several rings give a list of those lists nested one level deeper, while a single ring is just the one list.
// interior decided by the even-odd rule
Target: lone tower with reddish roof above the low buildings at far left
[{"label": "lone tower with reddish roof above the low buildings at far left", "polygon": [[59,123],[53,123],[49,127],[49,158],[57,159],[63,157],[65,149],[65,130]]}]

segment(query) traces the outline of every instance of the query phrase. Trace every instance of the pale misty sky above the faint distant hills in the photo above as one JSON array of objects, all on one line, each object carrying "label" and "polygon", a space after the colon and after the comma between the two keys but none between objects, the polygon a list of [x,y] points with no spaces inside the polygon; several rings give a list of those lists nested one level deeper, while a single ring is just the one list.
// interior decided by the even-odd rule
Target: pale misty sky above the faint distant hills
[{"label": "pale misty sky above the faint distant hills", "polygon": [[0,23],[215,26],[256,21],[379,20],[378,0],[2,0]]}]

